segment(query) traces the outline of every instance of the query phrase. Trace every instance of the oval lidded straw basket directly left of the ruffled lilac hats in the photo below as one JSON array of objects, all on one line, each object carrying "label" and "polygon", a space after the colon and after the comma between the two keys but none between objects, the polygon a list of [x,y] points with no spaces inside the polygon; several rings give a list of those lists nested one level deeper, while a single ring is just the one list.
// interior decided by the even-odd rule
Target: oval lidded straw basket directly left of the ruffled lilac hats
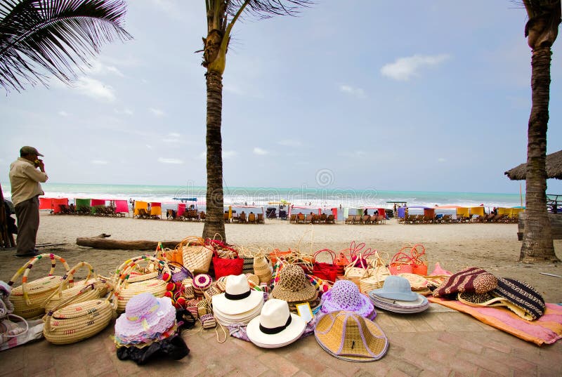
[{"label": "oval lidded straw basket directly left of the ruffled lilac hats", "polygon": [[58,345],[77,343],[96,335],[115,319],[115,302],[110,301],[111,295],[107,299],[74,302],[95,290],[93,284],[84,286],[77,296],[60,301],[43,317],[43,335],[48,342]]}]

